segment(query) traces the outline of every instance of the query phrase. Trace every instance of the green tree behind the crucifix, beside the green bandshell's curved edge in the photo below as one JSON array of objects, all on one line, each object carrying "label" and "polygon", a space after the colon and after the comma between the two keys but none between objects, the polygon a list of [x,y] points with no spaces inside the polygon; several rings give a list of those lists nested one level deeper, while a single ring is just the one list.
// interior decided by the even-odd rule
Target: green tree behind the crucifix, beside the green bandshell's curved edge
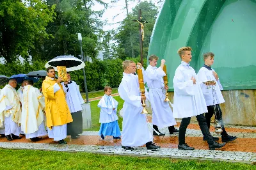
[{"label": "green tree behind the crucifix, beside the green bandshell's curved edge", "polygon": [[[123,60],[127,57],[132,57],[131,49],[134,50],[135,56],[140,55],[140,33],[138,31],[138,22],[131,23],[131,19],[138,19],[138,9],[141,9],[142,11],[143,20],[148,21],[144,26],[145,38],[143,41],[143,56],[147,57],[150,36],[156,22],[157,7],[152,2],[144,1],[132,9],[132,12],[129,14],[130,17],[126,17],[124,19],[122,26],[120,27],[120,31],[115,36],[115,40],[118,43],[116,52],[118,58]],[[129,39],[130,32],[133,47],[131,47]]]}]

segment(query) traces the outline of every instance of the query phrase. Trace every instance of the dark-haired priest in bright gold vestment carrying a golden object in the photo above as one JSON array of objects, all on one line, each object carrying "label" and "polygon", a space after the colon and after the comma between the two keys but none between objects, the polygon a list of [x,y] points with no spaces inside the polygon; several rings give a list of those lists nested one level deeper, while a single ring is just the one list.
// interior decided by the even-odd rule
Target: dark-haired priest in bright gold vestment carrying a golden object
[{"label": "dark-haired priest in bright gold vestment carrying a golden object", "polygon": [[47,68],[47,77],[43,82],[43,94],[45,97],[45,113],[48,135],[59,144],[67,144],[67,123],[72,122],[72,116],[65,100],[65,92],[60,82],[62,78],[54,79],[53,67]]}]

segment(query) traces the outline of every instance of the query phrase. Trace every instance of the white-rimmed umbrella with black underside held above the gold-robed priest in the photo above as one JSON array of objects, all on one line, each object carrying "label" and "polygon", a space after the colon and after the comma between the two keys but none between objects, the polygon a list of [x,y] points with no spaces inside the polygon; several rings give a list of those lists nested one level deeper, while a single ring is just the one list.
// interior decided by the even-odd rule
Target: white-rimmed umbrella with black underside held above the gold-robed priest
[{"label": "white-rimmed umbrella with black underside held above the gold-robed priest", "polygon": [[85,64],[81,59],[75,58],[74,56],[58,56],[48,61],[45,68],[49,66],[54,67],[55,70],[57,70],[57,66],[66,66],[67,72],[71,72],[84,68]]}]

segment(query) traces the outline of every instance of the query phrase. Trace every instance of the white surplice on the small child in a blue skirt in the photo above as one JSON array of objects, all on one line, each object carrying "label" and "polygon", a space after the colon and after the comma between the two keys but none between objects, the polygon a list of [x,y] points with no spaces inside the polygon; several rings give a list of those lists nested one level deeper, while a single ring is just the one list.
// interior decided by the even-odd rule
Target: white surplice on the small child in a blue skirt
[{"label": "white surplice on the small child in a blue skirt", "polygon": [[116,115],[117,105],[118,102],[111,96],[104,95],[100,99],[98,104],[98,107],[100,107],[100,123],[110,123],[118,120]]}]

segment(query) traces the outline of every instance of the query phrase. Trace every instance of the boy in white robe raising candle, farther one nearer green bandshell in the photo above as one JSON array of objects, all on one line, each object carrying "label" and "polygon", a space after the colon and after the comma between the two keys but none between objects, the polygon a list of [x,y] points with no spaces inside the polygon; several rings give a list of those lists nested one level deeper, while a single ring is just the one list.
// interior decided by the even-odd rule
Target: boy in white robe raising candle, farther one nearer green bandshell
[{"label": "boy in white robe raising candle, farther one nearer green bandshell", "polygon": [[[179,132],[174,128],[176,121],[173,118],[172,109],[169,102],[164,102],[165,92],[168,86],[164,86],[164,79],[167,81],[165,60],[161,60],[159,68],[156,67],[158,57],[151,55],[148,58],[149,65],[146,69],[147,86],[149,88],[148,97],[152,107],[152,124],[153,128],[159,132],[158,128],[168,127],[170,134]],[[164,78],[164,79],[163,79]],[[155,131],[153,135],[165,135],[161,132],[157,134]]]}]

